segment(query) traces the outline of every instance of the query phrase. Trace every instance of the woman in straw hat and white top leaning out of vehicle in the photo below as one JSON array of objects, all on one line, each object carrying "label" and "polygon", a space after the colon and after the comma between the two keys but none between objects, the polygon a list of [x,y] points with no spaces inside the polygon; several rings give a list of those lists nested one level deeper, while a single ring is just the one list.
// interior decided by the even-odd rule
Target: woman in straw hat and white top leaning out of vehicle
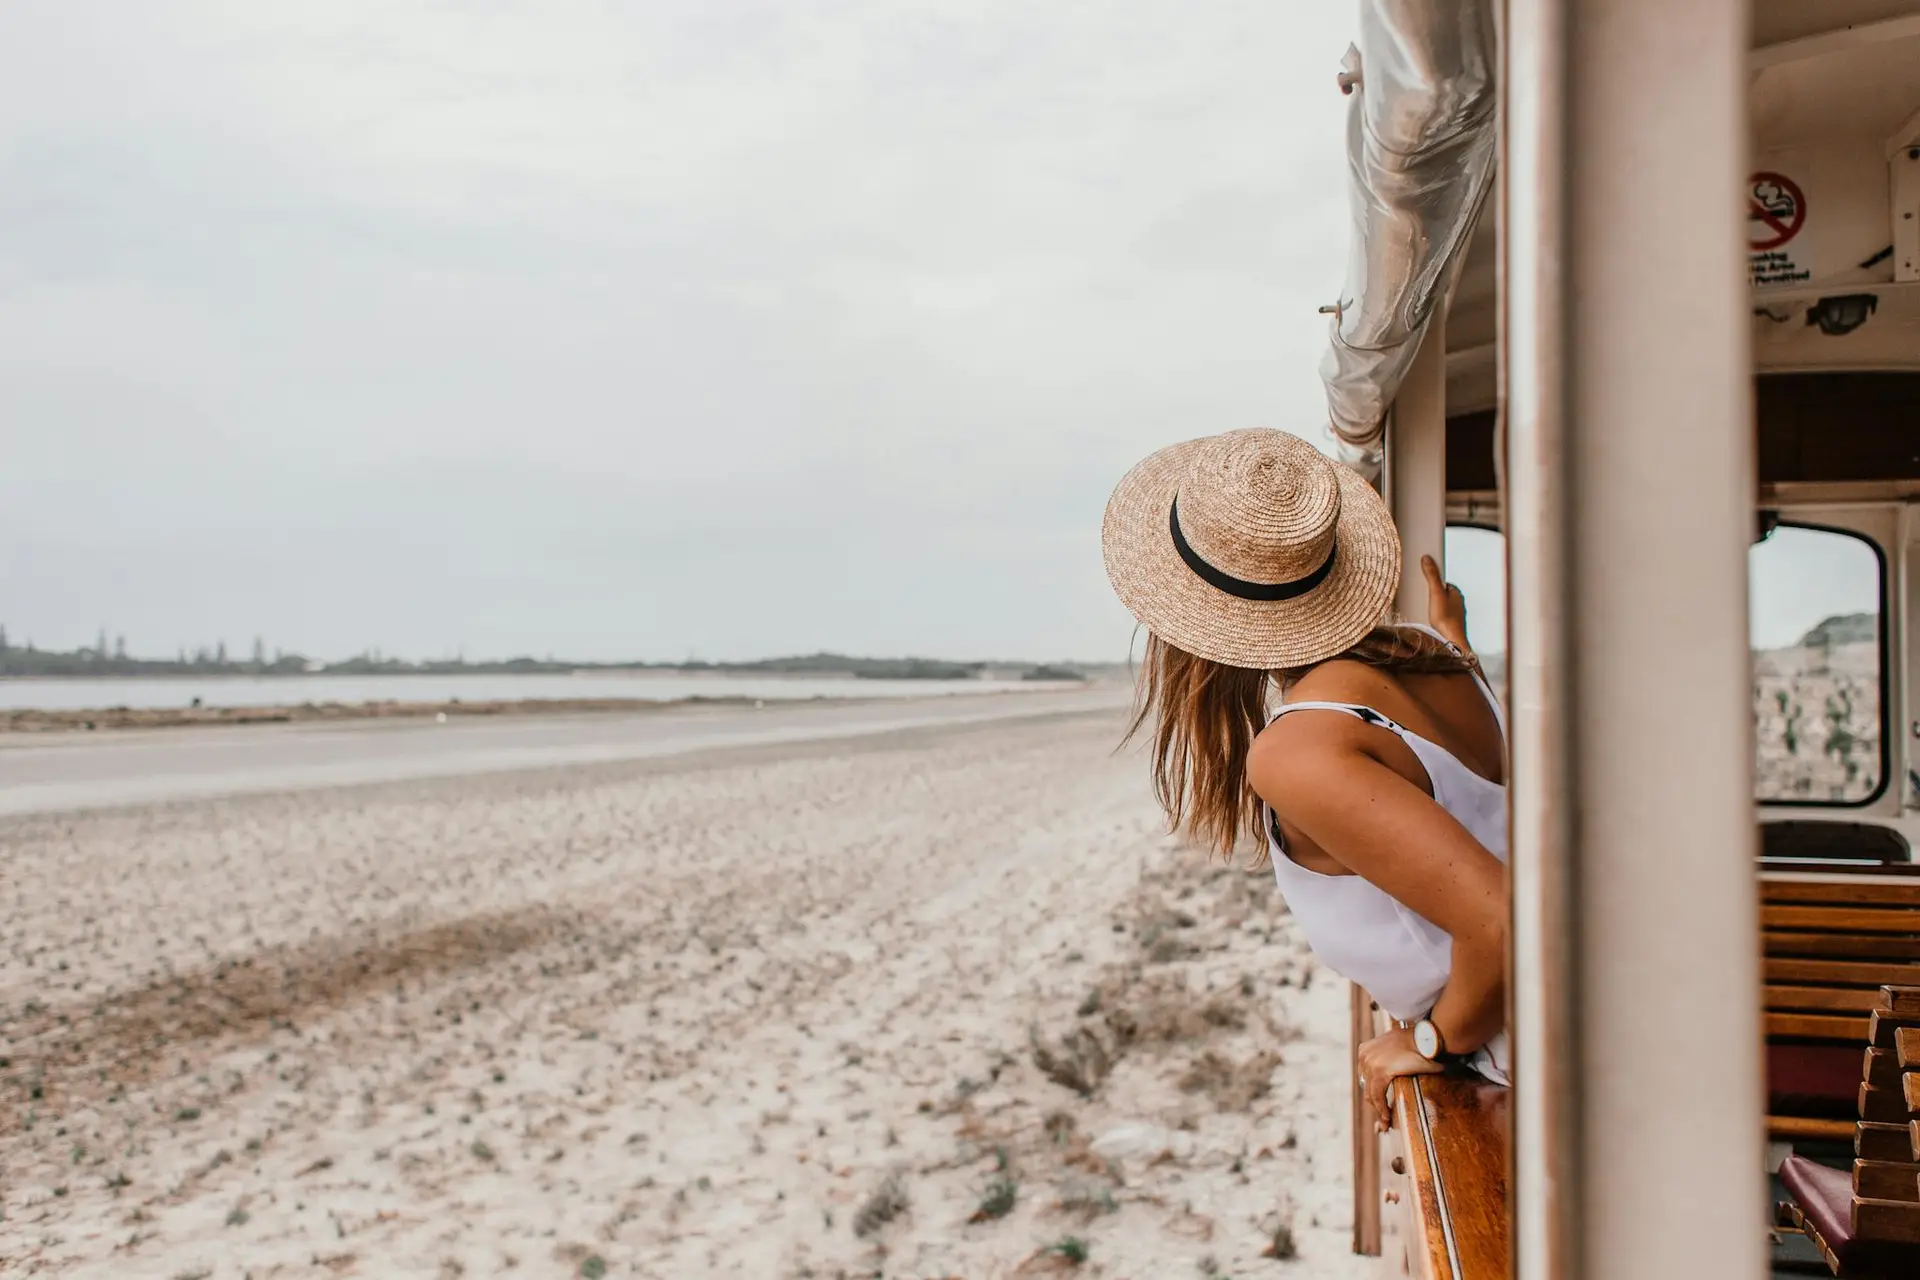
[{"label": "woman in straw hat and white top leaning out of vehicle", "polygon": [[1390,622],[1386,505],[1283,432],[1162,449],[1100,541],[1150,633],[1133,731],[1169,825],[1260,841],[1313,952],[1405,1023],[1359,1050],[1380,1126],[1394,1077],[1505,1084],[1505,725],[1459,593],[1423,558],[1430,626]]}]

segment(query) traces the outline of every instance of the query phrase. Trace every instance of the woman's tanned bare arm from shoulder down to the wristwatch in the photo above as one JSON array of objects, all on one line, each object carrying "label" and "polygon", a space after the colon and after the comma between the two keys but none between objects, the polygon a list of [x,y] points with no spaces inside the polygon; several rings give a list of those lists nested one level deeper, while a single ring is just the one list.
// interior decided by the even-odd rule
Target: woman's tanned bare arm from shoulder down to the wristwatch
[{"label": "woman's tanned bare arm from shoulder down to the wristwatch", "polygon": [[1382,733],[1352,716],[1286,716],[1254,743],[1248,781],[1327,856],[1453,936],[1428,1017],[1450,1052],[1471,1054],[1505,1023],[1507,869],[1375,754]]}]

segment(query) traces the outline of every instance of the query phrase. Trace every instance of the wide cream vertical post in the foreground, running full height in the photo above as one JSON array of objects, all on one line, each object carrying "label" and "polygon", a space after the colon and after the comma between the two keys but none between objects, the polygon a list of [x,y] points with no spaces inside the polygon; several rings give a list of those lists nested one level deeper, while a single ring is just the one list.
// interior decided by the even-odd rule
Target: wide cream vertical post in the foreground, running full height
[{"label": "wide cream vertical post in the foreground, running full height", "polygon": [[1747,6],[1505,31],[1517,1270],[1761,1276]]}]

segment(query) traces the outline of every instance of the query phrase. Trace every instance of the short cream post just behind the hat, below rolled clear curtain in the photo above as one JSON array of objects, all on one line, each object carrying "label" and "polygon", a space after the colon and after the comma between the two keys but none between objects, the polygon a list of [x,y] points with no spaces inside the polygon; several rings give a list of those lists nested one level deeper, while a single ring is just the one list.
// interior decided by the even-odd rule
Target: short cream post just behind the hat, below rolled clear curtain
[{"label": "short cream post just behind the hat, below rolled clear curtain", "polygon": [[1427,618],[1421,557],[1446,570],[1446,311],[1427,324],[1386,430],[1386,501],[1405,551],[1400,564],[1400,616]]}]

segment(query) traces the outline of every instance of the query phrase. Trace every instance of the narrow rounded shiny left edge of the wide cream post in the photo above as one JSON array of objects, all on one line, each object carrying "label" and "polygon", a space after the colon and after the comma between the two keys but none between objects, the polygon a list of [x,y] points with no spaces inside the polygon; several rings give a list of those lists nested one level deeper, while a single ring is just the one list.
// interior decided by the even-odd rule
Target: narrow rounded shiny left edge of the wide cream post
[{"label": "narrow rounded shiny left edge of the wide cream post", "polygon": [[1567,652],[1565,0],[1507,0],[1501,56],[1501,370],[1513,777],[1513,1270],[1576,1280],[1580,1109]]}]

